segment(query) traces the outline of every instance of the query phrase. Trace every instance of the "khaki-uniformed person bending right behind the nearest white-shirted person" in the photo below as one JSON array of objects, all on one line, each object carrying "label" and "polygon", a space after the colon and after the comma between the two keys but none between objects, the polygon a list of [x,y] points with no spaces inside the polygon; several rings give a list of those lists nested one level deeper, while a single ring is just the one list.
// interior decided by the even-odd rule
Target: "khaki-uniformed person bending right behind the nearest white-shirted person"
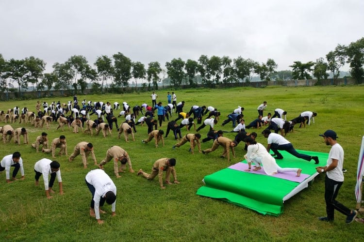
[{"label": "khaki-uniformed person bending right behind the nearest white-shirted person", "polygon": [[[100,162],[99,168],[103,169],[104,168],[103,166],[109,161],[111,161],[111,159],[114,160],[114,173],[116,175],[116,178],[121,177],[119,176],[119,172],[124,172],[123,169],[125,169],[126,163],[128,163],[129,165],[129,171],[134,173],[129,154],[124,149],[120,148],[119,146],[112,146],[109,150],[106,151],[106,158]],[[120,167],[118,167],[117,165],[119,161],[121,162]]]}]

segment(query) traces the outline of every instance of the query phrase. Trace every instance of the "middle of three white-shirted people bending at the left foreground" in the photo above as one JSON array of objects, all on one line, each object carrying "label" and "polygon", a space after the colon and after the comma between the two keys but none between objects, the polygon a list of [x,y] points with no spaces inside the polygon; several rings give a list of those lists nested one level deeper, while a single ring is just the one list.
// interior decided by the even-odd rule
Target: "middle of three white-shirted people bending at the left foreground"
[{"label": "middle of three white-shirted people bending at the left foreground", "polygon": [[[44,188],[46,190],[46,196],[48,199],[52,198],[50,193],[54,193],[52,190],[54,180],[58,180],[59,194],[63,195],[61,171],[59,170],[60,164],[57,161],[51,161],[50,159],[43,158],[37,161],[34,165],[35,171],[35,185],[39,185],[39,177],[43,175]],[[48,182],[48,176],[50,175],[50,181]]]}]

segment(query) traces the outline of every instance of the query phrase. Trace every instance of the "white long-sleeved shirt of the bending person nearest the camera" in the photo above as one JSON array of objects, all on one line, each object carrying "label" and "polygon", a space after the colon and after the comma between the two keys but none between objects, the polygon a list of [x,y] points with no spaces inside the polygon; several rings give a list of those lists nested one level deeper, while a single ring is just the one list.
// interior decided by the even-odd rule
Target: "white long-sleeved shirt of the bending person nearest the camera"
[{"label": "white long-sleeved shirt of the bending person nearest the camera", "polygon": [[[111,178],[101,169],[91,170],[86,175],[86,181],[95,188],[95,215],[96,219],[100,219],[99,204],[100,198],[105,196],[108,191],[112,191],[116,195],[116,186]],[[116,211],[116,200],[111,205],[111,211]]]}]

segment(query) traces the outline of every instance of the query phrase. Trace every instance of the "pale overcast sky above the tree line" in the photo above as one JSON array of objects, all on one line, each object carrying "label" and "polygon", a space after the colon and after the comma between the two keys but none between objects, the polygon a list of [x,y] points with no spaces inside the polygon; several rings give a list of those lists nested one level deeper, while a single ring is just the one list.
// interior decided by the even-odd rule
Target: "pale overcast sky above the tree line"
[{"label": "pale overcast sky above the tree line", "polygon": [[364,0],[1,0],[0,53],[65,62],[123,53],[148,67],[238,56],[278,70],[364,36]]}]

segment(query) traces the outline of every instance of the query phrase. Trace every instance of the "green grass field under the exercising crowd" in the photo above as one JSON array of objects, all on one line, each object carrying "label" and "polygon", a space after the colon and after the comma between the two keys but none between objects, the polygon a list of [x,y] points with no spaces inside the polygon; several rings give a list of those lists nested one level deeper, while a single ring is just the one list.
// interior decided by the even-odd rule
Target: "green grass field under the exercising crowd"
[{"label": "green grass field under the exercising crowd", "polygon": [[[156,91],[159,101],[166,104],[166,92]],[[356,183],[357,161],[364,134],[363,104],[364,86],[347,87],[267,87],[265,89],[232,88],[232,89],[191,89],[177,90],[177,101],[186,102],[184,111],[192,105],[214,106],[221,111],[219,123],[215,129],[232,130],[232,124],[221,126],[222,121],[238,105],[245,107],[246,124],[257,116],[257,106],[268,102],[267,112],[274,113],[275,108],[287,111],[287,119],[291,120],[303,111],[314,111],[318,115],[315,123],[306,128],[295,127],[295,132],[286,137],[299,150],[329,152],[322,134],[333,129],[339,136],[338,142],[344,148],[347,169],[345,182],[337,200],[347,207],[356,205],[354,187]],[[130,106],[147,102],[151,105],[151,93],[78,95],[83,99],[120,104],[124,101]],[[72,97],[44,98],[40,101],[61,103],[71,101]],[[27,106],[35,111],[37,100],[13,101],[0,103],[0,110],[14,106],[20,109]],[[118,113],[118,112],[116,112]],[[95,119],[95,115],[91,116]],[[173,119],[176,118],[174,114]],[[122,122],[118,118],[118,123]],[[4,123],[0,123],[2,126]],[[21,124],[12,124],[13,128]],[[173,150],[175,144],[173,134],[165,139],[165,147],[155,148],[154,144],[143,145],[141,139],[147,138],[147,127],[137,126],[136,141],[126,143],[124,137],[113,136],[103,138],[83,133],[74,134],[67,129],[56,131],[58,123],[52,123],[49,130],[41,130],[27,124],[30,143],[42,131],[48,133],[49,140],[65,135],[68,154],[75,144],[89,141],[94,144],[98,162],[106,155],[112,145],[118,145],[128,151],[135,173],[122,173],[116,179],[112,163],[105,165],[105,171],[113,179],[117,187],[116,216],[111,217],[111,206],[104,206],[107,214],[101,214],[105,220],[99,225],[95,218],[89,216],[91,194],[85,185],[86,173],[97,168],[89,157],[89,166],[83,169],[81,157],[72,163],[66,156],[56,156],[61,164],[64,195],[57,194],[58,183],[55,182],[56,194],[48,200],[44,193],[42,178],[40,186],[34,186],[34,163],[41,158],[51,158],[51,154],[36,153],[31,144],[17,146],[12,141],[8,144],[0,142],[0,157],[20,151],[22,154],[25,176],[24,181],[7,184],[5,172],[0,173],[0,241],[361,241],[364,227],[356,222],[346,225],[345,216],[335,212],[333,224],[320,222],[317,217],[326,215],[324,200],[324,176],[318,176],[308,189],[303,190],[284,204],[284,212],[279,217],[263,216],[257,212],[234,206],[220,200],[196,195],[197,189],[203,185],[202,179],[220,169],[243,160],[244,144],[235,149],[236,158],[230,163],[220,159],[221,148],[203,155],[195,150],[192,155],[186,144]],[[199,126],[199,125],[197,125]],[[166,130],[166,122],[163,123]],[[256,131],[249,129],[248,131]],[[206,136],[208,127],[200,131]],[[258,132],[257,141],[266,145],[266,139]],[[182,135],[186,133],[182,129]],[[233,133],[227,133],[233,139]],[[201,148],[212,146],[212,141],[202,143]],[[181,184],[167,185],[165,190],[159,188],[158,179],[147,181],[136,176],[142,168],[150,172],[155,160],[163,157],[175,157],[176,170]],[[13,168],[12,168],[13,169]],[[11,170],[12,171],[12,170]],[[18,178],[20,172],[18,173]],[[254,184],[251,184],[254,186]],[[361,215],[363,216],[363,214]]]}]

